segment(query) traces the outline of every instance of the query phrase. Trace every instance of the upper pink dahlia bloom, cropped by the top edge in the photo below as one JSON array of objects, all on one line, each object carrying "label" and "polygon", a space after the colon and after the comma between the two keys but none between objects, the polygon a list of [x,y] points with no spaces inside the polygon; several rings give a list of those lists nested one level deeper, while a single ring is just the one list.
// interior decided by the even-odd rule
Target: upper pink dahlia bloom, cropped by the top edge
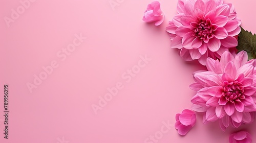
[{"label": "upper pink dahlia bloom, cropped by the top edge", "polygon": [[232,4],[223,0],[179,0],[178,14],[169,21],[170,46],[179,49],[186,60],[206,64],[207,57],[220,58],[224,51],[238,45],[234,36],[241,31]]}]

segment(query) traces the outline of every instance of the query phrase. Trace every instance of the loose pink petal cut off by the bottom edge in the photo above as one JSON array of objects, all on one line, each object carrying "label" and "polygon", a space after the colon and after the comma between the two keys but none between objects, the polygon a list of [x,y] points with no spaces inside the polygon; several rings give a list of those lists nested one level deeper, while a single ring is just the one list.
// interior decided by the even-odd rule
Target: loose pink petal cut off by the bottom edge
[{"label": "loose pink petal cut off by the bottom edge", "polygon": [[245,131],[239,131],[229,136],[229,143],[251,143],[251,135]]}]

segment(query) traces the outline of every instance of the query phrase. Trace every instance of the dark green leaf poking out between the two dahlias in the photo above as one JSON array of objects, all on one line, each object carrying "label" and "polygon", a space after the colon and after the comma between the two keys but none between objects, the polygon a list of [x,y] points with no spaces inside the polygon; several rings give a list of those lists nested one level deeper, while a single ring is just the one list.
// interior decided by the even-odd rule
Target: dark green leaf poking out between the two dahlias
[{"label": "dark green leaf poking out between the two dahlias", "polygon": [[238,37],[238,51],[246,51],[248,60],[256,59],[256,34],[252,35],[251,32],[245,31],[241,27],[241,32]]}]

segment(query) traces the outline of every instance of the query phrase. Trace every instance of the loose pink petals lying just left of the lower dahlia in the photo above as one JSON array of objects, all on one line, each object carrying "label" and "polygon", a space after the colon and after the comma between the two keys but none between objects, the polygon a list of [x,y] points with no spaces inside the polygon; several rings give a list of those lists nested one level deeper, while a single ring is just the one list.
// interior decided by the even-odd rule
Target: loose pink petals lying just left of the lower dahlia
[{"label": "loose pink petals lying just left of the lower dahlia", "polygon": [[196,113],[185,109],[181,114],[176,114],[175,128],[180,135],[186,135],[187,132],[196,124]]}]

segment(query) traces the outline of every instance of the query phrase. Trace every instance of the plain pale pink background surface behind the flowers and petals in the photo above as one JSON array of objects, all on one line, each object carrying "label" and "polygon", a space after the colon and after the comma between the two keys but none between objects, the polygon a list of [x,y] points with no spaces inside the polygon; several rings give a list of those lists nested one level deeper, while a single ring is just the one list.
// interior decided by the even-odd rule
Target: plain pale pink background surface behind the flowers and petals
[{"label": "plain pale pink background surface behind the flowers and petals", "polygon": [[[188,88],[191,74],[204,67],[184,62],[169,47],[165,27],[176,14],[178,0],[160,1],[165,21],[159,27],[142,21],[152,1],[118,2],[113,10],[109,0],[36,0],[8,28],[4,17],[11,17],[11,9],[21,4],[0,1],[0,142],[145,142],[161,131],[162,122],[175,124],[175,114],[190,108],[195,94]],[[225,2],[233,3],[243,28],[256,33],[256,2]],[[61,61],[56,54],[80,33],[87,39]],[[126,82],[122,74],[137,67],[140,55],[151,61]],[[52,61],[58,67],[31,93],[26,84]],[[118,82],[123,88],[95,114],[92,105]],[[9,85],[9,139],[3,136],[4,84]],[[256,142],[255,127],[223,133],[218,123],[203,125],[197,114],[197,124],[186,136],[171,127],[157,141],[228,142],[230,133],[246,129]]]}]

